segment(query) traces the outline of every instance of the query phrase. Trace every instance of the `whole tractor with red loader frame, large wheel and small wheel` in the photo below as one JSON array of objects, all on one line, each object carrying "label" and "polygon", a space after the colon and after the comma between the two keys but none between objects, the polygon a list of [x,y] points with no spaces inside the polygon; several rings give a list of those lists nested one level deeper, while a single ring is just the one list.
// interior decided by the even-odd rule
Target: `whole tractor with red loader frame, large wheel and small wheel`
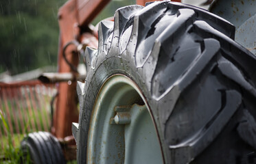
[{"label": "whole tractor with red loader frame, large wheel and small wheel", "polygon": [[108,0],[60,8],[58,74],[40,79],[70,83],[55,137],[23,140],[35,163],[65,163],[56,138],[78,163],[256,163],[256,1],[180,2],[138,0],[95,27]]}]

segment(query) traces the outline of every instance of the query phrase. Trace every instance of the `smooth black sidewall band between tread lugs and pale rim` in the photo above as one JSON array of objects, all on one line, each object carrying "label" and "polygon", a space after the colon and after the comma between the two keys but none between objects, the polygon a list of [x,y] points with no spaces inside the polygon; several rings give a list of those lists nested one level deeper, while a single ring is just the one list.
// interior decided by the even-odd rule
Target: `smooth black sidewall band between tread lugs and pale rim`
[{"label": "smooth black sidewall band between tread lugs and pale rim", "polygon": [[[104,54],[103,54],[104,55]],[[100,56],[99,56],[100,58]],[[143,97],[147,101],[150,109],[150,115],[153,116],[154,124],[156,127],[159,125],[156,123],[156,112],[152,109],[154,103],[150,96],[150,92],[143,82],[137,68],[132,66],[133,62],[125,59],[126,57],[112,56],[105,58],[103,61],[98,61],[100,64],[94,70],[89,70],[86,78],[84,105],[82,110],[82,118],[80,119],[80,145],[78,148],[78,160],[80,163],[86,163],[87,141],[89,134],[89,126],[91,121],[91,114],[94,108],[95,100],[97,99],[97,93],[100,91],[104,82],[111,76],[121,74],[131,79],[141,90]],[[145,80],[145,79],[144,79]],[[81,109],[80,109],[81,110]],[[159,128],[156,128],[159,130]],[[159,132],[157,132],[159,136]]]}]

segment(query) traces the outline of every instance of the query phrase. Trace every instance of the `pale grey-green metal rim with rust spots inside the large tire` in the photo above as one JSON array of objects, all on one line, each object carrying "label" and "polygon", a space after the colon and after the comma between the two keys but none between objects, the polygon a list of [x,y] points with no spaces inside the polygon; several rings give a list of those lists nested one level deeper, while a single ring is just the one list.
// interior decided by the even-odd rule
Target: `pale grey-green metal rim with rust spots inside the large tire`
[{"label": "pale grey-green metal rim with rust spots inside the large tire", "polygon": [[86,155],[87,163],[163,163],[149,107],[128,77],[112,76],[100,89]]}]

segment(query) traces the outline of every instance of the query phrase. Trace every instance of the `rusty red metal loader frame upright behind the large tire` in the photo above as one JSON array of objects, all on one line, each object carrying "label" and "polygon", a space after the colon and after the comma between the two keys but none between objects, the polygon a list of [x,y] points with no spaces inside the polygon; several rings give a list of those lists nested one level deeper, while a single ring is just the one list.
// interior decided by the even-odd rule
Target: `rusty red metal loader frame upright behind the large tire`
[{"label": "rusty red metal loader frame upright behind the large tire", "polygon": [[[60,38],[58,49],[58,72],[73,72],[62,57],[64,46],[72,40],[86,42],[87,45],[97,48],[97,39],[84,29],[91,20],[104,8],[110,0],[70,0],[58,12]],[[87,28],[88,29],[88,28]],[[65,50],[67,60],[73,66],[78,66],[77,47],[70,45]],[[76,72],[73,72],[75,74]],[[71,122],[78,122],[77,98],[75,93],[76,82],[60,83],[58,86],[57,108],[54,113],[54,122],[51,133],[58,138],[64,138],[71,133]]]}]

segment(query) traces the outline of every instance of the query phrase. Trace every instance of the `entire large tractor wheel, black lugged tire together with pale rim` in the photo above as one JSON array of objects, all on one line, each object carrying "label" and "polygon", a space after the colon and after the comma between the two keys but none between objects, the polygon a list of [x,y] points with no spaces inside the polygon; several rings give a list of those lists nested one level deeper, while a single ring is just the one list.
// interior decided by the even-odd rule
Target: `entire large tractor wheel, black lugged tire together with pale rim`
[{"label": "entire large tractor wheel, black lugged tire together with pale rim", "polygon": [[235,27],[172,2],[130,5],[86,48],[78,163],[255,163],[256,57]]}]

